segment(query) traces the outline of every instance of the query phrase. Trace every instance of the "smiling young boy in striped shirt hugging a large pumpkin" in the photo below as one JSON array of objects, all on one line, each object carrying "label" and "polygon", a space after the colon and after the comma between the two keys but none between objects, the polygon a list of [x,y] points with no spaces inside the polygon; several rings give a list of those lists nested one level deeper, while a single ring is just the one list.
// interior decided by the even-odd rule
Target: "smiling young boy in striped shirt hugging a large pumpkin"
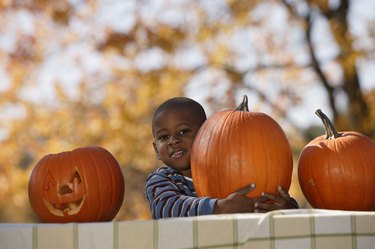
[{"label": "smiling young boy in striped shirt hugging a large pumpkin", "polygon": [[[280,187],[279,196],[263,193],[255,198],[247,197],[255,184],[245,186],[225,199],[197,197],[191,179],[190,151],[205,120],[203,107],[185,97],[169,99],[155,110],[153,146],[157,158],[165,166],[152,172],[145,184],[153,219],[298,208],[294,199]],[[269,200],[273,203],[267,203]]]}]

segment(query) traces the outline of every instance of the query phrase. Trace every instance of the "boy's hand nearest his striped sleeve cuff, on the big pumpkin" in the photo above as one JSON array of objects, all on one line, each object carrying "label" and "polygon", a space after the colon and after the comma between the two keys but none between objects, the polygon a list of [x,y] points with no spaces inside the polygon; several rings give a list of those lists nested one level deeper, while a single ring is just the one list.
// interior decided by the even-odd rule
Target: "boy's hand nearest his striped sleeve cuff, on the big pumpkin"
[{"label": "boy's hand nearest his striped sleeve cuff, on the big pumpkin", "polygon": [[256,209],[255,203],[263,203],[269,200],[267,196],[247,197],[246,195],[254,189],[255,184],[253,183],[237,190],[225,199],[218,200],[214,208],[214,214],[253,213]]}]

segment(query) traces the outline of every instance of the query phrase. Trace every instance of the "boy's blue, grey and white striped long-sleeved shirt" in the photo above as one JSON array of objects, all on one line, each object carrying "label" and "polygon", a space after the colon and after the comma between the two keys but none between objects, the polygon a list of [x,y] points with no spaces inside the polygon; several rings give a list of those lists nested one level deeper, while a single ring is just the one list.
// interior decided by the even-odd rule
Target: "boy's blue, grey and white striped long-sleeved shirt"
[{"label": "boy's blue, grey and white striped long-sleeved shirt", "polygon": [[192,179],[168,166],[147,177],[145,194],[153,219],[213,214],[217,201],[197,197]]}]

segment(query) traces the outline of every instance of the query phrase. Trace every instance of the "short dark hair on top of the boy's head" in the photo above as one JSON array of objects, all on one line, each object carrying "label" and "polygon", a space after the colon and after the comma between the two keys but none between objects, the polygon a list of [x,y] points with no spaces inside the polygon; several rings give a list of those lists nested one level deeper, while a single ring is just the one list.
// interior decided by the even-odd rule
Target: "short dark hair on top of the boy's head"
[{"label": "short dark hair on top of the boy's head", "polygon": [[163,102],[152,115],[152,131],[154,130],[155,119],[159,113],[174,108],[187,108],[191,110],[193,117],[200,122],[199,126],[207,119],[206,112],[201,104],[187,97],[174,97]]}]

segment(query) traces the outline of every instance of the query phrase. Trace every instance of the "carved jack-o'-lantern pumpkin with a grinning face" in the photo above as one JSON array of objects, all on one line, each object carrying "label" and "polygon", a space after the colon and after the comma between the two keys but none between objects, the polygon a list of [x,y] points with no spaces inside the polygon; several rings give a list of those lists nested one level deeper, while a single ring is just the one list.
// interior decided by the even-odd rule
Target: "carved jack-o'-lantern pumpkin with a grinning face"
[{"label": "carved jack-o'-lantern pumpkin with a grinning face", "polygon": [[31,207],[42,222],[111,221],[125,192],[120,166],[102,147],[48,154],[34,166]]}]

